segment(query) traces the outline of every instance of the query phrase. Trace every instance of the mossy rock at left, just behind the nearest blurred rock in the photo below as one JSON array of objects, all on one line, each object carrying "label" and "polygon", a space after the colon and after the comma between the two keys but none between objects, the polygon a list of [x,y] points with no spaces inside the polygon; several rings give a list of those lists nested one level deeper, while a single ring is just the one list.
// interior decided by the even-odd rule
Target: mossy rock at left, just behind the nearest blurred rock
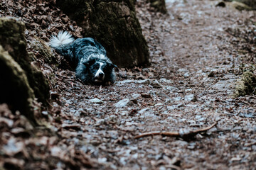
[{"label": "mossy rock at left, just behind the nearest blurred rock", "polygon": [[47,106],[47,100],[50,96],[49,85],[43,73],[31,67],[31,57],[26,51],[25,24],[16,18],[0,18],[0,45],[24,70],[29,86],[34,91],[38,101]]}]

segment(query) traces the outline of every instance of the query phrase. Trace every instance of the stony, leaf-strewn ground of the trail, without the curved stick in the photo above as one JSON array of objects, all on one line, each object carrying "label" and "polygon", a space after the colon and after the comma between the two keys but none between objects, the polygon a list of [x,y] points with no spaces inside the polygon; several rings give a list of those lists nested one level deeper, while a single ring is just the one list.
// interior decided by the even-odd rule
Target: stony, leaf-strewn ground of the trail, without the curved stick
[{"label": "stony, leaf-strewn ground of the trail, without the curved stick", "polygon": [[[48,128],[33,128],[2,105],[0,167],[255,169],[256,97],[233,95],[242,72],[255,70],[255,12],[215,3],[169,0],[163,15],[137,1],[151,66],[119,69],[112,86],[84,85],[63,65],[50,67],[38,52],[51,82],[51,107],[42,120]],[[71,21],[63,22],[65,28]],[[54,22],[50,28],[57,29]],[[30,48],[35,35],[47,40],[51,33],[40,29],[33,37],[26,34],[31,52],[36,53]],[[143,132],[198,130],[216,121],[189,139],[134,139]]]}]

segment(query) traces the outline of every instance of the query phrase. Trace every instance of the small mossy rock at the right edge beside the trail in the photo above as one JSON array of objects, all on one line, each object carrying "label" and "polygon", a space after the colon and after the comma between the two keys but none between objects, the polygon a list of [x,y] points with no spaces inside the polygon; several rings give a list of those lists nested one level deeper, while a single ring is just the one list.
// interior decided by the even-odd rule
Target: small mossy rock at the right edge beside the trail
[{"label": "small mossy rock at the right edge beside the trail", "polygon": [[244,72],[235,87],[235,97],[256,94],[256,76],[252,72]]}]

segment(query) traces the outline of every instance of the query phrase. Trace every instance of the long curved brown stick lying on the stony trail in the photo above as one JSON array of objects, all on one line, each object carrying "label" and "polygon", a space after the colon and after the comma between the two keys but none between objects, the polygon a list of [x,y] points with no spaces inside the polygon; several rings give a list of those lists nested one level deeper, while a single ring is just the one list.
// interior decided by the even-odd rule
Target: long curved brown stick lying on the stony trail
[{"label": "long curved brown stick lying on the stony trail", "polygon": [[183,139],[188,139],[188,138],[196,136],[198,133],[206,132],[207,130],[210,130],[215,125],[217,125],[217,123],[218,123],[218,121],[213,123],[213,125],[210,125],[206,128],[203,128],[200,130],[195,130],[195,131],[186,132],[186,130],[179,130],[179,132],[160,132],[160,131],[146,132],[146,133],[142,133],[141,135],[137,135],[134,138],[139,139],[141,137],[147,137],[147,136],[153,136],[153,135],[164,135],[164,136],[169,136],[169,137],[181,137]]}]

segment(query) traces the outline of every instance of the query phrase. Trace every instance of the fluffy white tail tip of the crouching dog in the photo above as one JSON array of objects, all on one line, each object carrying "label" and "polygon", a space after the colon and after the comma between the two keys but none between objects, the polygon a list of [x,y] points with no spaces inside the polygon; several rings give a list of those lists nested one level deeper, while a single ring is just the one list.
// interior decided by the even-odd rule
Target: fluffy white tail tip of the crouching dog
[{"label": "fluffy white tail tip of the crouching dog", "polygon": [[70,33],[68,33],[68,31],[60,30],[57,36],[52,35],[52,37],[50,38],[49,45],[50,47],[57,49],[59,47],[68,45],[73,41],[74,41],[74,38]]}]

